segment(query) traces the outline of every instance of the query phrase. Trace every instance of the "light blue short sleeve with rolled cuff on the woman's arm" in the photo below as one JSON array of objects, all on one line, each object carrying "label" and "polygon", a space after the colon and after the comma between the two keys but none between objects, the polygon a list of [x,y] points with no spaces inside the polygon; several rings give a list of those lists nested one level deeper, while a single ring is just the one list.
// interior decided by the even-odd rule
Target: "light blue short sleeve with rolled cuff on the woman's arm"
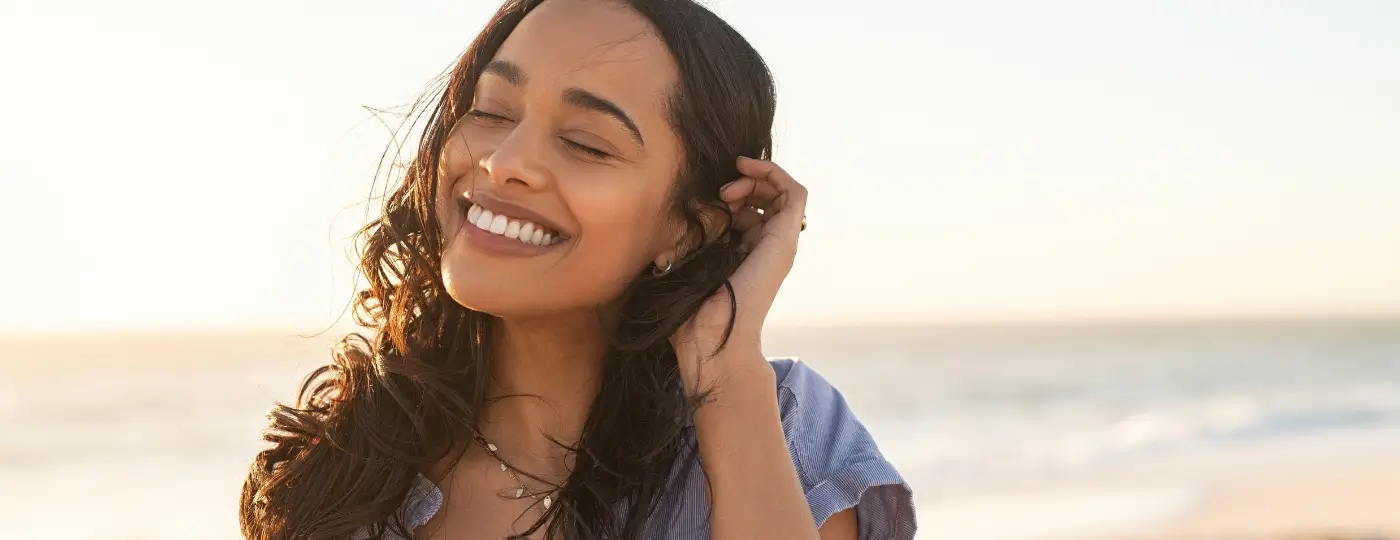
[{"label": "light blue short sleeve with rolled cuff on the woman's arm", "polygon": [[855,508],[860,540],[911,540],[913,492],[881,455],[846,397],[805,362],[770,364],[777,374],[788,452],[816,525]]}]

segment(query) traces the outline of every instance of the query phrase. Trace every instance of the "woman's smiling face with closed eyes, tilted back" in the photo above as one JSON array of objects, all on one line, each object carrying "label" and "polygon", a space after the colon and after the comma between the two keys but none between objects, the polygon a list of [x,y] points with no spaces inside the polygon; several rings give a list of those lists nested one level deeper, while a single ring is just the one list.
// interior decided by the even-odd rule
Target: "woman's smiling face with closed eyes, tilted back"
[{"label": "woman's smiling face with closed eyes, tilted back", "polygon": [[549,0],[486,67],[442,148],[442,280],[497,316],[594,309],[673,256],[676,67],[626,6]]}]

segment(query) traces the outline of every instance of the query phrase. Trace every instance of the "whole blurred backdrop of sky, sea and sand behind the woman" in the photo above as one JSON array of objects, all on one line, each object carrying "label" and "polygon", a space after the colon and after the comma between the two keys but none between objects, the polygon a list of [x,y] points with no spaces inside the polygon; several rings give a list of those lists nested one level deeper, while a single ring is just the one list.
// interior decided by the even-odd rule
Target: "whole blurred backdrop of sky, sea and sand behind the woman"
[{"label": "whole blurred backdrop of sky, sea and sand behind the woman", "polygon": [[[812,192],[764,346],[920,539],[1400,539],[1400,4],[708,4]],[[0,539],[238,537],[494,7],[0,3]]]}]

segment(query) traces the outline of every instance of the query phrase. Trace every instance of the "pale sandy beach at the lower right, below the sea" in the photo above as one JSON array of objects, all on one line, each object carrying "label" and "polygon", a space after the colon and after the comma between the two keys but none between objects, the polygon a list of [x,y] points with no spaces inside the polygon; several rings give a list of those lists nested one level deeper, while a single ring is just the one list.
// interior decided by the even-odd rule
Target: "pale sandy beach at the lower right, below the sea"
[{"label": "pale sandy beach at the lower right, below the sea", "polygon": [[1226,445],[921,495],[920,540],[1400,540],[1400,431]]}]

